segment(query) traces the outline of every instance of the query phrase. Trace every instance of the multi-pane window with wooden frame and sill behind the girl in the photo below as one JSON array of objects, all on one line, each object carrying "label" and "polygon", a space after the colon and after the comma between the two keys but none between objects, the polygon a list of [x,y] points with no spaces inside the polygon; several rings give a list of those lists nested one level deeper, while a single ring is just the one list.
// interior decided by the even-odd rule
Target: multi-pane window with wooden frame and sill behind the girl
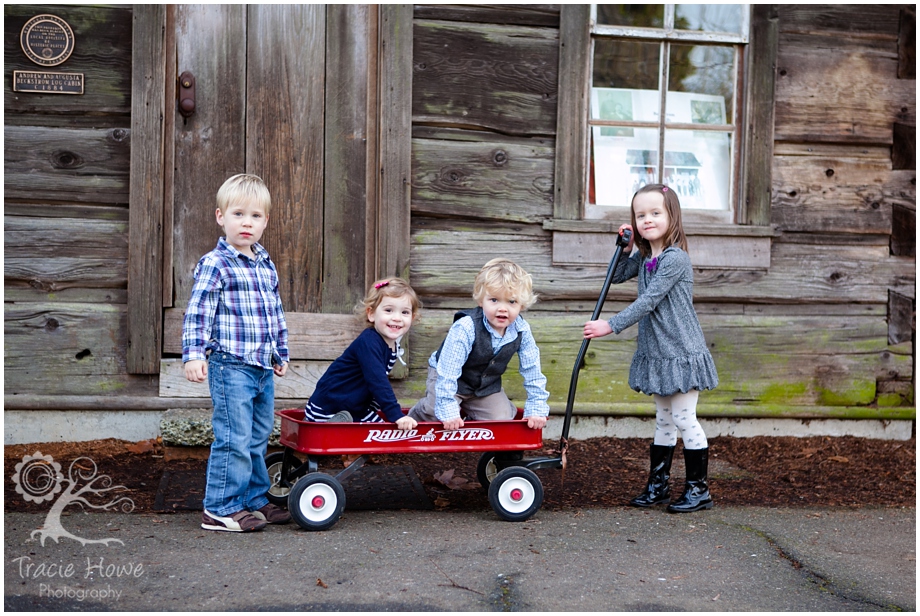
[{"label": "multi-pane window with wooden frame and sill behind the girl", "polygon": [[559,38],[554,261],[601,260],[663,182],[695,265],[768,267],[776,5],[566,4]]}]

